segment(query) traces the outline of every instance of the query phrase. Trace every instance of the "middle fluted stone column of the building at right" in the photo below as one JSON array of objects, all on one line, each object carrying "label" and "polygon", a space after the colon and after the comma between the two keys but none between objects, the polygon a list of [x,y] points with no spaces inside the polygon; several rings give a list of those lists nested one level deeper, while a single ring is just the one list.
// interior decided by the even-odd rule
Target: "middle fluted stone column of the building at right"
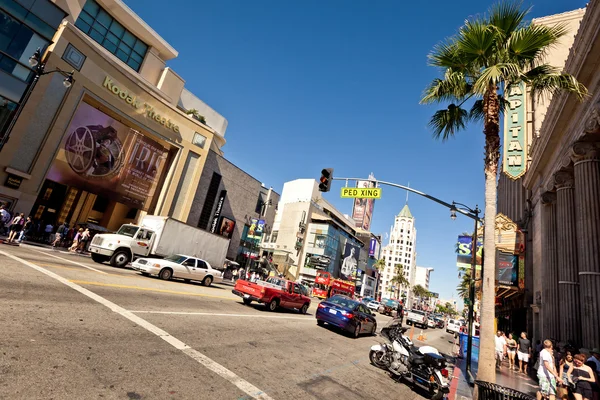
[{"label": "middle fluted stone column of the building at right", "polygon": [[558,254],[558,291],[560,293],[560,341],[581,339],[579,276],[577,266],[577,229],[573,173],[559,171],[556,184],[556,228]]}]

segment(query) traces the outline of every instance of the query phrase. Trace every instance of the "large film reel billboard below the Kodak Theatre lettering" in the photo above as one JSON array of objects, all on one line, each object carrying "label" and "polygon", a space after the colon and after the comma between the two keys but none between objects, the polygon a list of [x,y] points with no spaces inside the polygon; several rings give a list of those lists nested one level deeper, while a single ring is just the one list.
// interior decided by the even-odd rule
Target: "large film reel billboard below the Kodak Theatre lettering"
[{"label": "large film reel billboard below the Kodak Theatre lettering", "polygon": [[82,102],[47,179],[148,211],[168,155],[160,143]]}]

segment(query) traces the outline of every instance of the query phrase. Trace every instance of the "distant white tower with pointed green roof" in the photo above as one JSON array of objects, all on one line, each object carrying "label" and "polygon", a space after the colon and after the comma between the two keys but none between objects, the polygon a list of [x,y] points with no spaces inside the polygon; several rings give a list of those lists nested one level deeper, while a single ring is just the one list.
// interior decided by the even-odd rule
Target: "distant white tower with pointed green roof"
[{"label": "distant white tower with pointed green roof", "polygon": [[[414,286],[416,277],[416,243],[415,218],[406,204],[394,219],[389,243],[383,248],[382,256],[386,266],[380,275],[381,298],[408,298],[410,304],[410,288]],[[399,285],[393,281],[398,272],[410,285]]]}]

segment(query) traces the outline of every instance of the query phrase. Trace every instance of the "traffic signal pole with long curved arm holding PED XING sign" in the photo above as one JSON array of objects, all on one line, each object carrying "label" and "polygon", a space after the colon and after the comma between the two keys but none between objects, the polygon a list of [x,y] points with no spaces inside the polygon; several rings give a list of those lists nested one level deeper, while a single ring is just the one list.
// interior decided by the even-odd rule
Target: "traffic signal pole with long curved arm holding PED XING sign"
[{"label": "traffic signal pole with long curved arm holding PED XING sign", "polygon": [[[331,169],[330,173],[331,173],[331,175],[333,175],[333,169]],[[471,243],[471,283],[469,285],[470,304],[469,304],[469,316],[468,316],[469,332],[467,334],[467,373],[470,374],[471,373],[471,350],[473,349],[473,307],[474,307],[474,303],[475,303],[475,269],[477,268],[477,228],[478,228],[479,222],[483,222],[479,218],[479,214],[481,213],[481,210],[479,209],[479,207],[475,206],[475,209],[472,209],[464,204],[457,203],[455,201],[453,201],[452,203],[447,203],[443,200],[438,199],[437,197],[430,196],[427,193],[423,193],[423,192],[413,189],[411,187],[399,185],[399,184],[393,183],[393,182],[385,182],[385,181],[364,179],[364,178],[334,178],[332,176],[330,176],[328,178],[329,178],[329,180],[332,180],[332,181],[346,181],[346,185],[348,185],[348,181],[368,181],[368,182],[373,183],[375,185],[375,187],[378,187],[378,185],[386,185],[386,186],[396,187],[399,189],[404,189],[406,191],[418,194],[419,196],[422,196],[431,201],[434,201],[446,208],[449,208],[450,209],[450,218],[452,218],[453,220],[456,219],[456,213],[459,212],[460,214],[463,214],[464,216],[469,217],[475,221],[475,229],[473,231],[473,237],[472,237],[472,243]]]}]

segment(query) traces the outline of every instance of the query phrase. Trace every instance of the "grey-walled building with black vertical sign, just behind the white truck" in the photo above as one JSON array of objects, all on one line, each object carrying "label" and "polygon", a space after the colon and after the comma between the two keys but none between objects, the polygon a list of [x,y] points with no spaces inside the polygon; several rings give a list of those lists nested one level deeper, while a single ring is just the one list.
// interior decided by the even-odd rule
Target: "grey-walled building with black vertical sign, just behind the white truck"
[{"label": "grey-walled building with black vertical sign, just behind the white truck", "polygon": [[247,266],[271,233],[279,194],[212,150],[200,182],[187,223],[231,239],[227,258]]}]

